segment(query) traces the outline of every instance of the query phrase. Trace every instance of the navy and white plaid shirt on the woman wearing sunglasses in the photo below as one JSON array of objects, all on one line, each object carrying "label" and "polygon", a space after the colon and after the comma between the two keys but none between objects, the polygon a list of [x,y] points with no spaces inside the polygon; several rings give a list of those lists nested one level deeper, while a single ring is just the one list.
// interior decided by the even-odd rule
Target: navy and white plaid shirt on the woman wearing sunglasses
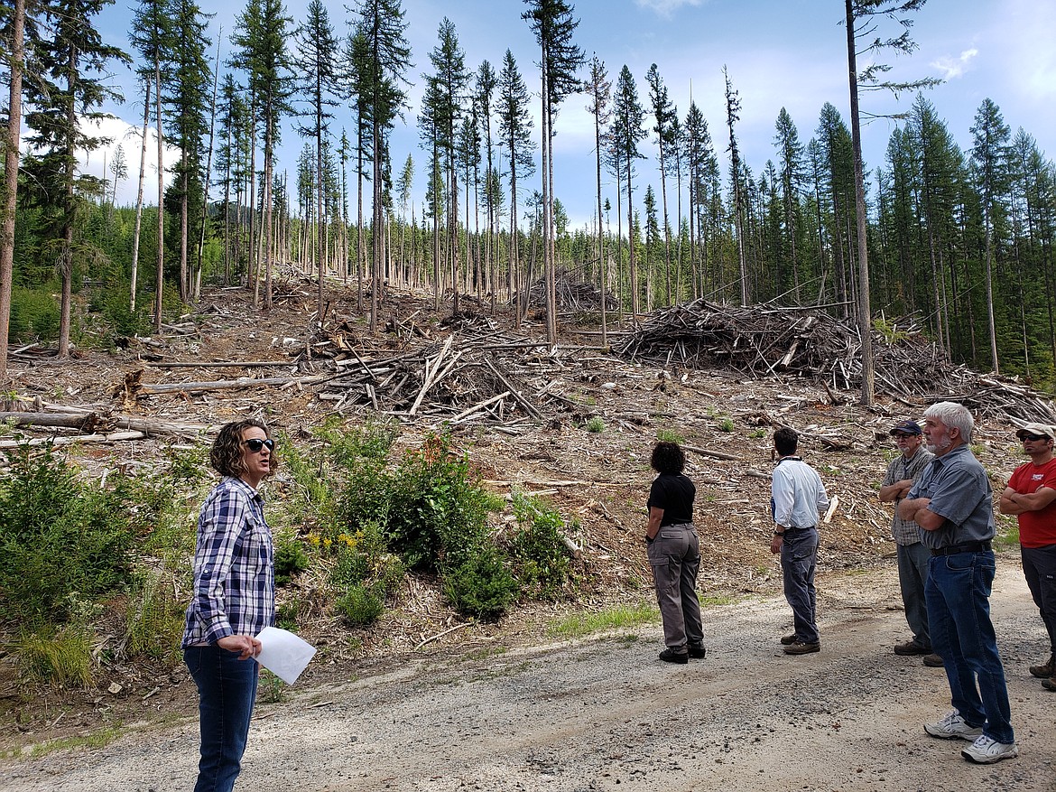
[{"label": "navy and white plaid shirt on the woman wearing sunglasses", "polygon": [[184,646],[254,636],[275,623],[274,549],[262,504],[256,490],[227,477],[203,505]]}]

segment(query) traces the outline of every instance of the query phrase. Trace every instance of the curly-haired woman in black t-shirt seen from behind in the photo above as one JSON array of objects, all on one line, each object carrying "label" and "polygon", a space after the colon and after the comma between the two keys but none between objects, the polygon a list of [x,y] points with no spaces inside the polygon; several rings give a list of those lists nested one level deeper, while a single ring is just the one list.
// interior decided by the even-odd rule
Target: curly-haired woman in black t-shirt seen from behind
[{"label": "curly-haired woman in black t-shirt seen from behind", "polygon": [[660,475],[653,482],[645,504],[649,510],[645,542],[667,646],[660,659],[687,663],[691,657],[706,654],[697,599],[700,541],[693,525],[697,488],[682,475],[685,454],[677,442],[658,442],[650,465]]}]

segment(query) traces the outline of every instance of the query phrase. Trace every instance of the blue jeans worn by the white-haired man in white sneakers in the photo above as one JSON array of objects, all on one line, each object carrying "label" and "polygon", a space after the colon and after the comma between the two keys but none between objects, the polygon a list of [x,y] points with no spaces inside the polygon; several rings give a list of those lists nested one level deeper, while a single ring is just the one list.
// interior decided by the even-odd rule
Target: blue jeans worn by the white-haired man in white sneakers
[{"label": "blue jeans worn by the white-haired man in white sneakers", "polygon": [[961,717],[991,739],[1013,742],[1008,690],[989,617],[994,570],[989,550],[934,555],[925,587],[928,626]]}]

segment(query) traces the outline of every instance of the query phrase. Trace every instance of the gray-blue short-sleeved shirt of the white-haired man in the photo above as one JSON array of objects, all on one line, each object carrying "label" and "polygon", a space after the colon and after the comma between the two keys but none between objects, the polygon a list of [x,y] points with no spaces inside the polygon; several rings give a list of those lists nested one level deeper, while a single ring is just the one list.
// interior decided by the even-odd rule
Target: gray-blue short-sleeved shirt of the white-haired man
[{"label": "gray-blue short-sleeved shirt of the white-haired man", "polygon": [[925,547],[938,549],[994,539],[994,491],[986,471],[967,446],[935,457],[906,497],[931,498],[928,510],[946,518],[938,530],[918,528]]}]

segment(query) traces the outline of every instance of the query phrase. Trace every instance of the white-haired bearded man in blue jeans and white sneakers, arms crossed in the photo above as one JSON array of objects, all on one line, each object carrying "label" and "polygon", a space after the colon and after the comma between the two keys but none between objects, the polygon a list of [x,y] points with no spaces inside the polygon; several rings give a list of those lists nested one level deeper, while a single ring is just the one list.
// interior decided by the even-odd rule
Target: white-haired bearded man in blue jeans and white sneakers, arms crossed
[{"label": "white-haired bearded man in blue jeans and white sneakers, arms crossed", "polygon": [[970,740],[961,755],[988,765],[1018,756],[1019,749],[989,615],[994,492],[968,448],[974,429],[972,413],[962,404],[940,401],[924,411],[924,436],[935,459],[899,504],[899,516],[920,526],[921,541],[931,550],[928,628],[954,704],[953,712],[924,730],[932,737]]}]

